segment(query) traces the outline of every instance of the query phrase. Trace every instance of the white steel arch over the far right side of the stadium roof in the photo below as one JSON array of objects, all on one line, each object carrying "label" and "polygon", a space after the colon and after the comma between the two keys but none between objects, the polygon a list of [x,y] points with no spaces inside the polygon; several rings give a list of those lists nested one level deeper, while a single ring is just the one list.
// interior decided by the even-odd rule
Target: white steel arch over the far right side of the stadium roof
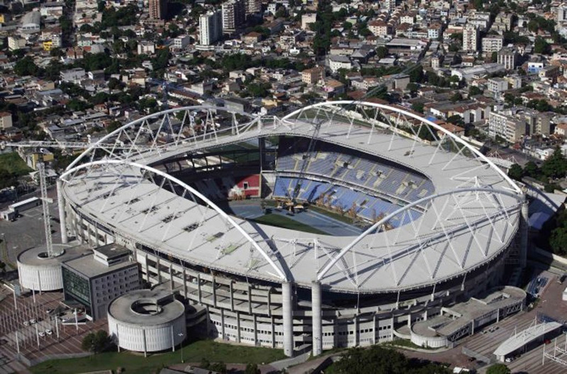
[{"label": "white steel arch over the far right side of the stadium roof", "polygon": [[[369,107],[373,107],[373,108],[378,108],[378,109],[382,109],[382,110],[388,110],[388,111],[393,111],[395,113],[400,113],[401,115],[405,115],[408,116],[410,118],[413,118],[415,120],[419,120],[422,123],[425,123],[426,125],[431,126],[432,128],[434,128],[437,131],[443,132],[445,136],[451,138],[451,140],[453,140],[454,142],[459,143],[460,145],[463,145],[464,147],[466,147],[466,149],[468,149],[470,152],[472,152],[473,154],[476,155],[476,157],[480,158],[483,162],[485,162],[486,164],[490,165],[490,167],[492,169],[494,169],[495,171],[498,172],[498,174],[500,174],[500,176],[503,177],[503,179],[505,181],[507,181],[507,183],[510,185],[510,187],[516,191],[516,193],[522,193],[522,190],[520,189],[520,187],[517,186],[517,184],[512,181],[512,179],[510,179],[509,176],[507,176],[507,174],[502,171],[501,169],[498,168],[498,166],[496,166],[494,164],[494,162],[492,162],[490,159],[488,159],[488,157],[485,157],[485,155],[483,155],[481,152],[478,152],[478,149],[476,149],[475,147],[472,147],[471,145],[469,145],[467,142],[465,142],[464,140],[462,140],[460,137],[454,135],[452,132],[447,131],[446,129],[442,128],[441,126],[437,125],[437,123],[434,123],[430,120],[427,120],[427,118],[423,118],[419,115],[415,115],[414,113],[411,113],[409,111],[405,111],[402,108],[398,108],[397,106],[386,106],[384,104],[380,104],[380,103],[371,103],[369,101],[347,101],[347,100],[341,100],[341,101],[325,101],[323,103],[315,103],[313,105],[307,106],[305,108],[301,108],[298,109],[297,111],[293,111],[285,116],[283,116],[283,118],[281,118],[282,122],[288,122],[290,123],[290,119],[297,116],[298,114],[301,114],[305,111],[309,111],[313,108],[320,108],[320,107],[325,107],[325,106],[329,106],[329,107],[336,107],[336,106],[369,106]],[[333,113],[335,114],[335,113]]]}]

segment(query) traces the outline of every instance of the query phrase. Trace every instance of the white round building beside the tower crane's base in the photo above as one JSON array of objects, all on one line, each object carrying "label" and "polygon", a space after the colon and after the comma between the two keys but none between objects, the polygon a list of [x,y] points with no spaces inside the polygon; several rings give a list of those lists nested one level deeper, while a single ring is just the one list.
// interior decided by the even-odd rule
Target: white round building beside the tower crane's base
[{"label": "white round building beside the tower crane's base", "polygon": [[55,291],[63,288],[61,264],[87,251],[83,246],[53,244],[55,256],[48,256],[45,246],[27,249],[18,255],[20,285],[28,290]]}]

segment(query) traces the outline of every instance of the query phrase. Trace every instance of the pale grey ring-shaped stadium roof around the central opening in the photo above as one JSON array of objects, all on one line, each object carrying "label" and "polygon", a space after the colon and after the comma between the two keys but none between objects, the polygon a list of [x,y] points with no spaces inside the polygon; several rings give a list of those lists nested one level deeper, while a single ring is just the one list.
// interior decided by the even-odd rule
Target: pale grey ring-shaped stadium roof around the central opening
[{"label": "pale grey ring-shaped stadium roof around the central opening", "polygon": [[[228,129],[227,135],[203,135],[202,140],[186,140],[175,147],[133,150],[129,157],[116,156],[113,164],[103,161],[69,169],[62,176],[69,181],[66,196],[91,220],[186,261],[271,281],[281,281],[283,273],[305,287],[320,276],[327,288],[344,292],[392,292],[449,280],[492,261],[514,237],[520,212],[516,191],[493,166],[464,152],[425,145],[383,128],[362,127],[354,123],[353,118],[360,122],[360,117],[352,111],[332,113],[329,120],[325,111],[315,114],[308,109],[313,117],[325,119],[319,140],[420,171],[440,196],[422,202],[426,212],[403,227],[386,230],[381,226],[379,232],[371,230],[358,238],[330,237],[257,225],[237,217],[232,217],[232,224],[212,205],[206,208],[187,198],[191,191],[181,198],[164,188],[170,182],[181,186],[180,181],[168,176],[167,183],[154,183],[147,177],[157,171],[148,165],[184,152],[260,136],[310,137],[313,124],[301,119],[301,113],[281,123],[240,125],[240,133],[233,135],[229,134],[234,129]],[[334,106],[325,110],[335,111]],[[399,111],[388,108],[388,113],[392,110]],[[143,128],[143,121],[139,123]],[[341,253],[344,249],[348,253]],[[320,272],[323,268],[327,268],[324,274]]]}]

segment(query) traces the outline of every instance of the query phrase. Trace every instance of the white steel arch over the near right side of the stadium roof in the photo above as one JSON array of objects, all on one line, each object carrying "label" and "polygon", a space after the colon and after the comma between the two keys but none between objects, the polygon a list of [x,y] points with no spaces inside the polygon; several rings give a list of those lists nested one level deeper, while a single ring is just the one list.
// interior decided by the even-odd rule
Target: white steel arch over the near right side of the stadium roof
[{"label": "white steel arch over the near right side of the stadium roof", "polygon": [[452,195],[452,194],[456,194],[456,193],[465,193],[465,192],[485,192],[485,193],[498,193],[498,194],[502,194],[505,196],[509,196],[510,198],[514,198],[515,200],[517,200],[519,203],[522,203],[524,201],[524,197],[522,195],[518,195],[517,193],[512,193],[510,191],[504,191],[504,190],[495,190],[493,188],[482,188],[482,187],[478,187],[478,188],[459,188],[458,190],[454,190],[454,191],[446,191],[444,193],[437,193],[434,194],[432,196],[427,196],[425,198],[420,198],[419,200],[414,201],[413,203],[409,204],[409,205],[405,205],[401,208],[399,208],[398,210],[395,210],[394,212],[391,212],[390,214],[386,215],[385,217],[383,217],[381,220],[379,220],[378,222],[374,223],[374,225],[371,225],[371,227],[369,227],[368,229],[366,229],[366,231],[364,231],[362,234],[360,234],[357,238],[355,238],[352,242],[350,242],[347,246],[344,246],[344,248],[342,248],[339,253],[335,256],[332,257],[331,261],[329,263],[327,263],[327,265],[325,267],[323,267],[320,271],[318,271],[317,273],[317,281],[320,281],[325,274],[330,271],[330,269],[337,265],[337,262],[339,260],[341,260],[343,258],[343,256],[345,254],[347,254],[347,252],[351,251],[354,246],[356,246],[359,242],[361,242],[362,239],[364,239],[365,237],[367,237],[369,234],[371,234],[371,232],[374,232],[376,229],[378,229],[379,227],[381,227],[382,225],[386,224],[386,222],[388,222],[389,220],[391,220],[393,217],[395,217],[396,215],[400,215],[400,213],[403,213],[405,211],[411,210],[412,208],[414,208],[415,206],[418,206],[422,203],[425,203],[427,201],[430,200],[434,200],[436,198],[440,198],[442,196],[448,196],[448,195]]}]

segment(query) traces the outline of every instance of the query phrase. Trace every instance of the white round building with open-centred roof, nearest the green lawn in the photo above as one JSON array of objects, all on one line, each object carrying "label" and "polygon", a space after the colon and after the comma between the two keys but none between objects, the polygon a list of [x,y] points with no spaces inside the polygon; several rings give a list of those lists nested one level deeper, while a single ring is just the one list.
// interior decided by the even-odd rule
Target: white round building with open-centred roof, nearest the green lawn
[{"label": "white round building with open-centred roof, nearest the green lawn", "polygon": [[185,306],[163,290],[135,290],[108,305],[108,332],[120,348],[157,352],[186,338]]}]

